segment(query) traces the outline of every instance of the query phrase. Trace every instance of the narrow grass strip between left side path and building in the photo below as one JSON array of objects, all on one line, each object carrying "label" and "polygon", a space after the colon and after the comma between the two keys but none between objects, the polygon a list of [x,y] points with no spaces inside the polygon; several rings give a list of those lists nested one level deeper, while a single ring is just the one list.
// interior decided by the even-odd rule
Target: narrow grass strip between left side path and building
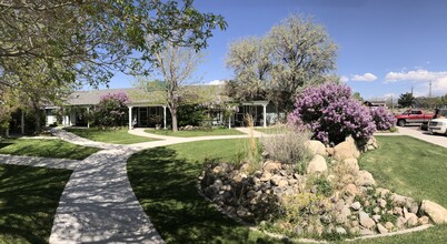
[{"label": "narrow grass strip between left side path and building", "polygon": [[99,149],[74,145],[59,139],[0,140],[0,154],[83,160]]}]

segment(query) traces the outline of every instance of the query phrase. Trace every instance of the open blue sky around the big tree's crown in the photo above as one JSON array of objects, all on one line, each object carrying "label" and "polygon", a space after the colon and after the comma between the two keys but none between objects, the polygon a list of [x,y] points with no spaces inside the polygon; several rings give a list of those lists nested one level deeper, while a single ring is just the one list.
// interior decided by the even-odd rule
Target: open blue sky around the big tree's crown
[{"label": "open blue sky around the big tree's crown", "polygon": [[[411,91],[447,93],[447,1],[445,0],[196,0],[202,12],[222,14],[226,31],[215,31],[196,78],[231,79],[225,65],[229,43],[264,35],[291,13],[310,16],[338,44],[335,74],[365,99]],[[131,87],[117,74],[110,88]]]}]

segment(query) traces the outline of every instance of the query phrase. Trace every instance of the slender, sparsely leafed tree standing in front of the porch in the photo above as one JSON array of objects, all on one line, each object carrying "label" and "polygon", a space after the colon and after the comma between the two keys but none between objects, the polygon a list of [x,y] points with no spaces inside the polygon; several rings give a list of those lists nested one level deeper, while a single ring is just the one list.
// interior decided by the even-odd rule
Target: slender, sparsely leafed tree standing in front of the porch
[{"label": "slender, sparsely leafed tree standing in front of the porch", "polygon": [[161,84],[165,91],[163,96],[172,118],[172,131],[178,131],[178,108],[190,95],[185,85],[191,84],[190,79],[200,60],[201,54],[193,49],[170,43],[156,53],[153,69],[163,78],[163,82],[157,82],[157,85]]}]

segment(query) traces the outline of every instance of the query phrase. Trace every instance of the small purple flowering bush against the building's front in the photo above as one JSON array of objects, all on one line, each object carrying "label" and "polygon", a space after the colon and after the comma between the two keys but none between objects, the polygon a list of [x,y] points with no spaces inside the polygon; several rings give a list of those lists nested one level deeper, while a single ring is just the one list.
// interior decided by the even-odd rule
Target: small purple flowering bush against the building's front
[{"label": "small purple flowering bush against the building's front", "polygon": [[93,124],[96,126],[113,128],[127,125],[128,108],[130,100],[125,92],[102,95],[98,105],[92,110]]}]

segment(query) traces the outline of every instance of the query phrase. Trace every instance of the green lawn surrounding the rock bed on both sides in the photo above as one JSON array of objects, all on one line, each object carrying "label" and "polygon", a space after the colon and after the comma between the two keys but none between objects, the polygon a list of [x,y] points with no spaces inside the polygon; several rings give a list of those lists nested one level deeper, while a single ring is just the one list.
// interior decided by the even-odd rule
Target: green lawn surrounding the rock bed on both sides
[{"label": "green lawn surrounding the rock bed on both sides", "polygon": [[[377,140],[380,149],[361,157],[362,169],[370,170],[380,184],[400,194],[445,204],[446,149],[410,138],[377,136]],[[241,144],[241,140],[193,142],[150,149],[130,157],[128,175],[133,191],[168,243],[275,242],[218,213],[197,193],[196,182],[205,159],[232,161]],[[437,187],[427,186],[429,182]],[[447,225],[355,243],[443,243],[445,240]]]}]

